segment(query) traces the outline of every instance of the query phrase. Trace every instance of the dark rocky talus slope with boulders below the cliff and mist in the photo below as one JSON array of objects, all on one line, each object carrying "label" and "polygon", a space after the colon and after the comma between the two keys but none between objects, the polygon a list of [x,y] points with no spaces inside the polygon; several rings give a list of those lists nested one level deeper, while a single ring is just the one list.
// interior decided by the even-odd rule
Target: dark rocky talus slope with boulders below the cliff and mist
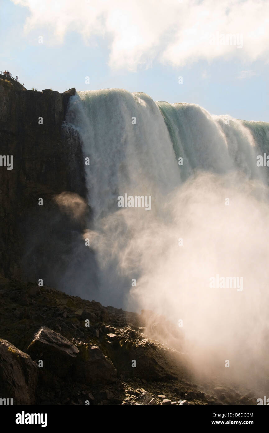
[{"label": "dark rocky talus slope with boulders below the cliff and mist", "polygon": [[193,383],[187,366],[145,333],[144,314],[0,279],[0,397],[14,404],[256,404]]}]

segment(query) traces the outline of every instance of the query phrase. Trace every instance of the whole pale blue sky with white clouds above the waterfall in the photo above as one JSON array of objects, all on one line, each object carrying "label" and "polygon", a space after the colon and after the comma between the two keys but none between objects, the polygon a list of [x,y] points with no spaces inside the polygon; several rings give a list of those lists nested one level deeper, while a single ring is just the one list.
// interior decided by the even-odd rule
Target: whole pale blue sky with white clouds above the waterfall
[{"label": "whole pale blue sky with white clouds above the waterfall", "polygon": [[[229,36],[230,35],[230,36]],[[0,0],[0,70],[269,122],[269,0]]]}]

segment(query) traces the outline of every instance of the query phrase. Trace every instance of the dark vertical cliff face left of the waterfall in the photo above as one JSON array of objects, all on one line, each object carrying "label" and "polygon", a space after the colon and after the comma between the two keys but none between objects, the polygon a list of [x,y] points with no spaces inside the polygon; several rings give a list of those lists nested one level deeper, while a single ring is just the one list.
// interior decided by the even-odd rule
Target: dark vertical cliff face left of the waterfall
[{"label": "dark vertical cliff face left of the waterfall", "polygon": [[12,170],[0,167],[0,272],[61,289],[73,249],[77,267],[94,261],[81,238],[90,214],[81,144],[64,123],[74,94],[0,80],[0,155],[13,155]]}]

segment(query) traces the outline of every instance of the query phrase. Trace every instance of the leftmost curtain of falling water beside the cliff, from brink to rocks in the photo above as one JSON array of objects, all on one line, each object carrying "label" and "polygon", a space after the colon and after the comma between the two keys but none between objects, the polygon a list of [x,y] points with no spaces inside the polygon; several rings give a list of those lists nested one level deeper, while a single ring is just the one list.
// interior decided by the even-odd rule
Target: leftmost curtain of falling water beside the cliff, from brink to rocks
[{"label": "leftmost curtain of falling water beside the cliff, from brink to rocks", "polygon": [[68,119],[80,133],[85,157],[90,158],[86,177],[94,232],[87,236],[102,269],[98,301],[122,307],[130,273],[137,278],[140,269],[139,259],[126,243],[134,236],[133,226],[117,199],[125,193],[152,197],[150,212],[133,208],[136,236],[151,224],[153,214],[161,220],[165,217],[159,204],[165,204],[180,184],[170,136],[154,101],[126,90],[79,92],[72,98]]}]

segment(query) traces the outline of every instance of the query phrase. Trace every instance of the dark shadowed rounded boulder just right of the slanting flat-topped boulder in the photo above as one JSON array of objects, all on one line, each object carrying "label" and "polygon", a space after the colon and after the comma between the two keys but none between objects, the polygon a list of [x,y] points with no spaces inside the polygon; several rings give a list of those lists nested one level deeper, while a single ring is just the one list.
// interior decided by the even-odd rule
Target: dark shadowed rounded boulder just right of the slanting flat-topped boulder
[{"label": "dark shadowed rounded boulder just right of the slanting flat-topped boulder", "polygon": [[86,384],[104,384],[114,382],[117,371],[111,360],[105,356],[98,346],[80,343],[79,355],[75,364],[74,375]]}]

